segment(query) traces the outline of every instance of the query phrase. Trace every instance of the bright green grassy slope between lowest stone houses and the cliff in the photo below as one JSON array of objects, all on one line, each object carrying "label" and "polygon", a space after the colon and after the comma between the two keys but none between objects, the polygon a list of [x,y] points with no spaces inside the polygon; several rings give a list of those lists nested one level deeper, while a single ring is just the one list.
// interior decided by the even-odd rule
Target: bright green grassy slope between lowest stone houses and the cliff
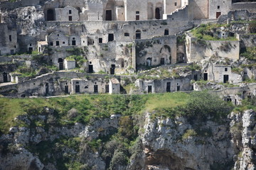
[{"label": "bright green grassy slope between lowest stone houses and the cliff", "polygon": [[[156,108],[173,108],[186,103],[188,94],[97,95],[66,98],[0,98],[0,132],[8,132],[16,125],[14,118],[23,114],[41,114],[44,107],[58,112],[60,125],[74,122],[88,123],[91,118],[109,118],[111,114],[134,115]],[[79,115],[68,118],[68,111],[76,108]]]}]

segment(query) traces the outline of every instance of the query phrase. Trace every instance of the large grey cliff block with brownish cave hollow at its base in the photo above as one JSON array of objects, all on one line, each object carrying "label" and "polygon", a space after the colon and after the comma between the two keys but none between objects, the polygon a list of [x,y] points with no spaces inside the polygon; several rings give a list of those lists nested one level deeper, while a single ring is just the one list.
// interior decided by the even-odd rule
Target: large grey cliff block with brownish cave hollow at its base
[{"label": "large grey cliff block with brownish cave hollow at its base", "polygon": [[[233,161],[228,125],[211,121],[191,125],[185,118],[146,117],[142,135],[145,169],[210,169],[217,162],[224,165]],[[196,133],[192,131],[195,127]]]}]

